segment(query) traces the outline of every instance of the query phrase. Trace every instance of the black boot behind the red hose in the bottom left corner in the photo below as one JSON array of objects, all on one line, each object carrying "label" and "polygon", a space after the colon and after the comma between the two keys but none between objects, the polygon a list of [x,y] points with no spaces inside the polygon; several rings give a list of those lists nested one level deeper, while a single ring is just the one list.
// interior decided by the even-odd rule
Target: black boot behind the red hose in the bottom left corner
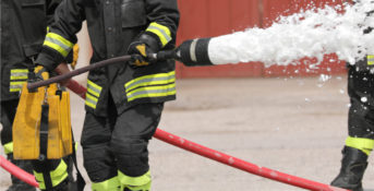
[{"label": "black boot behind the red hose in the bottom left corner", "polygon": [[[15,160],[13,159],[13,155],[8,155],[8,159],[12,162],[15,166],[22,168],[23,170],[33,174],[33,165],[29,160]],[[14,176],[11,176],[12,186],[8,188],[7,191],[36,191],[36,188],[29,186],[28,183],[17,179]]]}]

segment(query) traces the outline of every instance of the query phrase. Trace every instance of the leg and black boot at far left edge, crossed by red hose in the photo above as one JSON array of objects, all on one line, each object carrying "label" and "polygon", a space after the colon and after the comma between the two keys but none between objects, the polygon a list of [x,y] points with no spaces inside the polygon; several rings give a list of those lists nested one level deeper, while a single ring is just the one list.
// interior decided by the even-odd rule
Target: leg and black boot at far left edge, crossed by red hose
[{"label": "leg and black boot at far left edge, crossed by red hose", "polygon": [[[25,171],[32,174],[33,166],[29,160],[13,159],[12,123],[14,120],[17,105],[19,105],[19,99],[1,102],[1,106],[0,106],[1,108],[0,116],[1,116],[1,124],[2,124],[1,144],[10,162],[19,166],[20,168],[24,169]],[[21,181],[14,176],[11,176],[11,179],[12,179],[12,186],[8,188],[8,191],[16,191],[16,190],[35,191],[36,190],[34,187]]]}]

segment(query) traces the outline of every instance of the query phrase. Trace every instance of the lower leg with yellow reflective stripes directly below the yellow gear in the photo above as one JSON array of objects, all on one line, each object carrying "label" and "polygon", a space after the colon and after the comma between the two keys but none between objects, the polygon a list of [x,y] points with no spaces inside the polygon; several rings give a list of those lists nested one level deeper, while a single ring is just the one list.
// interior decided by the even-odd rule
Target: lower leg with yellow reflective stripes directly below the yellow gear
[{"label": "lower leg with yellow reflective stripes directly below the yellow gear", "polygon": [[33,160],[34,176],[39,183],[39,189],[46,191],[71,191],[71,179],[69,177],[72,169],[71,163],[69,156],[62,159]]}]

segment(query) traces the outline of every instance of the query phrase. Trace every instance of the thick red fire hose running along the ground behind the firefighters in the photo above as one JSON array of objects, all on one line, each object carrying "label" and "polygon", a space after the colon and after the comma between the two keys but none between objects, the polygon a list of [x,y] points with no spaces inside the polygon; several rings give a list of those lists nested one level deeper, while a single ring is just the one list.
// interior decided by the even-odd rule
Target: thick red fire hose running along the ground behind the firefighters
[{"label": "thick red fire hose running along the ground behind the firefighters", "polygon": [[[71,80],[67,86],[74,93],[77,93],[77,95],[80,95],[81,97],[85,96],[86,88],[80,85],[77,82]],[[240,158],[237,158],[237,157],[227,155],[225,153],[220,153],[218,151],[208,148],[206,146],[196,144],[189,140],[185,140],[174,134],[162,131],[160,129],[157,129],[154,136],[160,141],[164,141],[171,145],[186,150],[189,152],[198,154],[201,156],[214,159],[221,164],[234,167],[243,171],[248,171],[253,175],[268,178],[275,181],[283,182],[290,186],[294,186],[294,187],[299,187],[299,188],[303,188],[303,189],[312,190],[312,191],[348,191],[346,189],[335,188],[328,184],[319,183],[316,181],[307,180],[307,179],[295,177],[292,175],[287,175],[277,170],[268,169],[266,167],[258,167],[257,165],[248,163]],[[37,182],[35,181],[32,175],[23,171],[22,169],[14,166],[13,164],[11,164],[10,162],[8,162],[1,156],[0,156],[0,166],[4,168],[5,170],[8,170],[9,172],[11,172],[12,175],[14,175],[15,177],[20,178],[21,180],[34,187],[38,187]]]}]

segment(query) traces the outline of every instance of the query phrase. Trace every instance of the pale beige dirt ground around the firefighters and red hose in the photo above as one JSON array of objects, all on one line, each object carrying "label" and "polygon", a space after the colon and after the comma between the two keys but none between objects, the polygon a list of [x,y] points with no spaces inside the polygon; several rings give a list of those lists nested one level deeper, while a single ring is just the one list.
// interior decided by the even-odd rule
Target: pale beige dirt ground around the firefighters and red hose
[{"label": "pale beige dirt ground around the firefighters and red hose", "polygon": [[[159,128],[258,166],[329,183],[340,168],[347,136],[346,85],[345,75],[327,82],[319,77],[178,80],[178,99],[166,105]],[[73,95],[77,140],[83,107],[84,102]],[[155,191],[302,190],[156,139],[149,151]],[[81,148],[79,160],[84,171]],[[366,191],[374,191],[373,165],[370,158],[363,180]],[[2,169],[0,175],[0,190],[5,190],[9,175]]]}]

